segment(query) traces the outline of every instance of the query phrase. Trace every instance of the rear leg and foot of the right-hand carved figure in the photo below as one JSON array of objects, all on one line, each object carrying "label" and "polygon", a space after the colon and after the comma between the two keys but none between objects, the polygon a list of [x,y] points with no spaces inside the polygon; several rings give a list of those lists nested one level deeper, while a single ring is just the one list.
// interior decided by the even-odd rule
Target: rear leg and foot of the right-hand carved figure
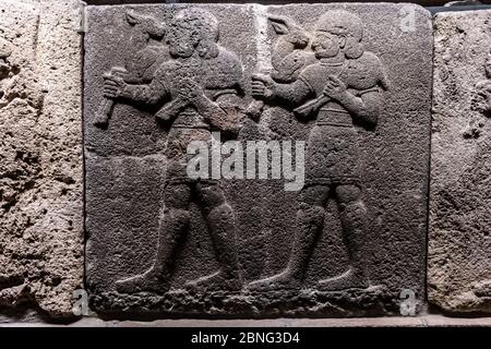
[{"label": "rear leg and foot of the right-hand carved figure", "polygon": [[350,267],[339,276],[319,281],[319,287],[325,291],[367,288],[369,282],[361,255],[367,209],[361,201],[361,190],[352,184],[338,185],[336,201],[339,206],[343,237],[346,241]]}]

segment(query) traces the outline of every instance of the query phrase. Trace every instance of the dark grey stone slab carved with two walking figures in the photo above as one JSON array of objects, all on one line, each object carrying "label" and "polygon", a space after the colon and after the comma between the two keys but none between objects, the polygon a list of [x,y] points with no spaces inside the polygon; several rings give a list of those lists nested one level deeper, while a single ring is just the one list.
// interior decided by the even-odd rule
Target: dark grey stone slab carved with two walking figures
[{"label": "dark grey stone slab carved with two walking figures", "polygon": [[[433,44],[426,10],[158,4],[88,7],[86,19],[94,310],[262,317],[420,309]],[[185,170],[193,141],[212,145],[202,159],[213,165],[213,145],[230,140],[247,158],[242,168],[238,153],[236,176]],[[253,141],[279,146],[280,176],[272,165],[267,176],[240,178]],[[219,151],[230,160],[230,148]],[[273,164],[274,151],[265,159]]]}]

